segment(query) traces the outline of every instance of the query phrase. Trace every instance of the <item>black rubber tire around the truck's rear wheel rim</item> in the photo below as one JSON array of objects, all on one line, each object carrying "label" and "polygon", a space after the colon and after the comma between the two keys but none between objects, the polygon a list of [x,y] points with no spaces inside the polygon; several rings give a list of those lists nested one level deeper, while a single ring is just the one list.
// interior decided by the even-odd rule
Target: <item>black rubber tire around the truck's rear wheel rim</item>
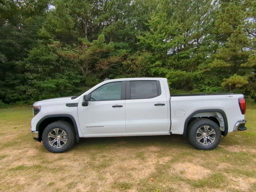
[{"label": "black rubber tire around the truck's rear wheel rim", "polygon": [[[207,128],[207,127],[210,128]],[[200,129],[200,130],[199,130]],[[210,130],[214,130],[215,132],[215,139],[212,141],[214,134],[206,135],[201,134],[200,131],[205,130],[211,132]],[[200,141],[198,141],[201,136],[203,137]],[[210,138],[211,139],[210,139]],[[212,120],[206,118],[198,118],[193,120],[188,126],[188,140],[192,146],[200,150],[211,150],[216,148],[220,142],[221,131],[220,127]],[[202,144],[203,143],[203,144]]]}]

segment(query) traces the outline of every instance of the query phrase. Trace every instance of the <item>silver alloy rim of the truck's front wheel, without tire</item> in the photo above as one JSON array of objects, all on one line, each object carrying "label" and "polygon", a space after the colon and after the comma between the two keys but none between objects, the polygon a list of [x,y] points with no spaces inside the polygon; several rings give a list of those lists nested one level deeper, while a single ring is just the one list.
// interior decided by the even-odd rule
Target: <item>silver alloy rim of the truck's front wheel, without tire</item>
[{"label": "silver alloy rim of the truck's front wheel, without tire", "polygon": [[68,141],[67,134],[64,130],[56,128],[48,134],[48,142],[55,148],[62,148]]}]

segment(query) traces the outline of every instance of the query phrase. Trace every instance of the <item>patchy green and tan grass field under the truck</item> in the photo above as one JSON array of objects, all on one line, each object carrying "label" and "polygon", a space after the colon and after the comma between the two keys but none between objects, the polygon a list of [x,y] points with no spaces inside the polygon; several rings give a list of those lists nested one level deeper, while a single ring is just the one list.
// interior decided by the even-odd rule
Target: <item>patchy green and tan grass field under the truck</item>
[{"label": "patchy green and tan grass field under the truck", "polygon": [[211,151],[182,136],[83,138],[53,154],[32,139],[32,107],[0,110],[0,191],[256,191],[256,106],[248,130]]}]

